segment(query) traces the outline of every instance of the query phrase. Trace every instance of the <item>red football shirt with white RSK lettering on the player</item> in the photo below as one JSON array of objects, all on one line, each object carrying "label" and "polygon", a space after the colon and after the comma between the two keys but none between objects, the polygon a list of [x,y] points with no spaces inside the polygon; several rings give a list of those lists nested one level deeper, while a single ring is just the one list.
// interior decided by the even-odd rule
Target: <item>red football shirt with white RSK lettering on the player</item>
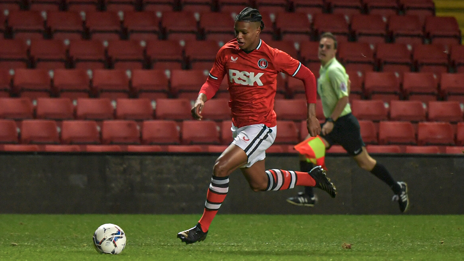
[{"label": "red football shirt with white RSK lettering on the player", "polygon": [[[227,74],[233,124],[238,128],[251,124],[273,127],[277,124],[273,110],[277,73],[295,76],[301,66],[303,65],[289,54],[268,46],[262,40],[259,40],[255,50],[246,53],[238,47],[237,39],[234,39],[218,51],[206,86],[210,82],[219,88]],[[207,99],[210,99],[216,91],[217,89],[212,91],[204,85],[200,93],[205,93]]]}]

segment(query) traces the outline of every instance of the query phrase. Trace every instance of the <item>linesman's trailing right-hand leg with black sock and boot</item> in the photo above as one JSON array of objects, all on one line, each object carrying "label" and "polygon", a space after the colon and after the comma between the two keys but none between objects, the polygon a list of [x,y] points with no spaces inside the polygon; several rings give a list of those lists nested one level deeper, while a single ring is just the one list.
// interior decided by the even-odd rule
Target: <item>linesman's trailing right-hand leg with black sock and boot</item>
[{"label": "linesman's trailing right-hand leg with black sock and boot", "polygon": [[387,168],[367,153],[366,147],[362,147],[361,153],[354,156],[354,160],[361,169],[369,171],[393,190],[395,194],[393,200],[398,201],[401,212],[406,212],[409,209],[407,184],[405,182],[396,182]]}]

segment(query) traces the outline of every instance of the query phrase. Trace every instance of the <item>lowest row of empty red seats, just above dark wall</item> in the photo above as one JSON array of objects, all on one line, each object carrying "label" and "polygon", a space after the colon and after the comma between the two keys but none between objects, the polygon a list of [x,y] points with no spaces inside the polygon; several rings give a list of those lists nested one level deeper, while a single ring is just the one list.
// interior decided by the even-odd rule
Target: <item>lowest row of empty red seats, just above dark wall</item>
[{"label": "lowest row of empty red seats, just above dark wall", "polygon": [[[464,145],[464,123],[455,128],[445,122],[360,121],[367,144]],[[101,127],[92,120],[65,120],[58,128],[53,120],[0,120],[2,144],[223,144],[232,142],[231,121],[105,120]],[[274,144],[296,144],[306,135],[306,124],[277,121]],[[300,133],[301,132],[301,133]]]}]

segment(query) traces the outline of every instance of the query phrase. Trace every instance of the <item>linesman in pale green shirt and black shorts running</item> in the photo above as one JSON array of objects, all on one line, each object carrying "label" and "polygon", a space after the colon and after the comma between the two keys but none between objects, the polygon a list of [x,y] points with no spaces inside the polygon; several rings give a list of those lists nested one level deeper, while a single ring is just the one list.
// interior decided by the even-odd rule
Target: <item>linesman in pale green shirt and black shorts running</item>
[{"label": "linesman in pale green shirt and black shorts running", "polygon": [[[351,114],[351,107],[348,103],[348,74],[335,58],[336,52],[335,36],[332,33],[323,33],[319,42],[318,56],[321,60],[321,69],[317,79],[317,92],[321,97],[322,110],[326,117],[320,135],[322,142],[325,148],[333,144],[342,145],[348,154],[353,156],[359,167],[370,171],[393,190],[393,200],[399,202],[401,212],[406,212],[409,208],[407,184],[396,182],[382,164],[367,154],[358,120]],[[306,171],[312,167],[313,164],[307,160],[307,157],[300,154],[300,170]],[[316,196],[312,187],[305,187],[304,192],[288,198],[287,202],[312,207],[316,202]]]}]

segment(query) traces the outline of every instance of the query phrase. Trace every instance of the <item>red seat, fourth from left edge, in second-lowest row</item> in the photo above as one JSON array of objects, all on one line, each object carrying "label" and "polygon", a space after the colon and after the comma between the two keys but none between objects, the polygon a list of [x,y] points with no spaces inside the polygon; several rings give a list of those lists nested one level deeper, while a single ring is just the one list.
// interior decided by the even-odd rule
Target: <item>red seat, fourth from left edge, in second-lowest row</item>
[{"label": "red seat, fourth from left edge, in second-lowest row", "polygon": [[149,120],[153,119],[153,107],[147,98],[116,100],[116,119]]}]

